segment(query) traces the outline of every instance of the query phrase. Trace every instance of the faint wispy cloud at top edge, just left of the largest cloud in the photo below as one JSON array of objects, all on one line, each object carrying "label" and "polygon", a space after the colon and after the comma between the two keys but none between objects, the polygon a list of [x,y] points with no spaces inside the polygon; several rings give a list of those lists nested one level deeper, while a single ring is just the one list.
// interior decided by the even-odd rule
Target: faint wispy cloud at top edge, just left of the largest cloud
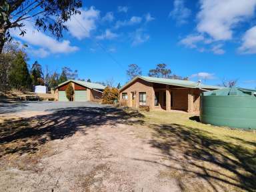
[{"label": "faint wispy cloud at top edge, just left of the largest cloud", "polygon": [[173,1],[173,11],[169,14],[169,17],[175,19],[179,25],[187,23],[187,19],[191,15],[191,10],[187,9],[184,4],[183,0]]}]

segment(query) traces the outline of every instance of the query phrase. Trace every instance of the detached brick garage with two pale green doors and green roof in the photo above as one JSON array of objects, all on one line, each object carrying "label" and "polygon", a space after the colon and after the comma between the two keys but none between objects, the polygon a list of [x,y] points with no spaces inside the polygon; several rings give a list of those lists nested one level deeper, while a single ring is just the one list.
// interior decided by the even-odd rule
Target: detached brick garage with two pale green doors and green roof
[{"label": "detached brick garage with two pale green doors and green roof", "polygon": [[55,99],[58,101],[68,101],[65,90],[69,83],[71,83],[75,91],[74,101],[101,101],[105,86],[99,83],[90,83],[73,79],[65,81],[55,88]]}]

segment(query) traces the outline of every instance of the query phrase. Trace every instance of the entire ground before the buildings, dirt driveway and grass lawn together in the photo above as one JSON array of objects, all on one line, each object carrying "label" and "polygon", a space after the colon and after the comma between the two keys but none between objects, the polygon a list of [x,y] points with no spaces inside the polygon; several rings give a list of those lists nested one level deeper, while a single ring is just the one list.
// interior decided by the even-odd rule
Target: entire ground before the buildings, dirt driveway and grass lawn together
[{"label": "entire ground before the buildings, dirt driveway and grass lawn together", "polygon": [[95,103],[4,107],[0,191],[256,191],[253,132]]}]

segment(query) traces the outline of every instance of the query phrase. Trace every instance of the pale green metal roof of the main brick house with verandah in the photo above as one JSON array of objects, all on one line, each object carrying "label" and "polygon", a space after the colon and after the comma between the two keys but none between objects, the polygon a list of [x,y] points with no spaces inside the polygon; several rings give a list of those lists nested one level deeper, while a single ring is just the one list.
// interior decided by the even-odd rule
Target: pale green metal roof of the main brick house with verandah
[{"label": "pale green metal roof of the main brick house with verandah", "polygon": [[213,85],[204,85],[203,83],[197,83],[195,81],[137,76],[133,80],[131,80],[129,83],[127,83],[126,85],[121,87],[121,89],[130,85],[136,79],[143,79],[144,81],[151,82],[151,83],[161,83],[161,84],[165,84],[165,85],[175,85],[175,86],[179,86],[179,87],[188,87],[188,88],[201,88],[201,89],[222,89],[223,88],[223,87],[218,87],[218,86],[213,86]]}]

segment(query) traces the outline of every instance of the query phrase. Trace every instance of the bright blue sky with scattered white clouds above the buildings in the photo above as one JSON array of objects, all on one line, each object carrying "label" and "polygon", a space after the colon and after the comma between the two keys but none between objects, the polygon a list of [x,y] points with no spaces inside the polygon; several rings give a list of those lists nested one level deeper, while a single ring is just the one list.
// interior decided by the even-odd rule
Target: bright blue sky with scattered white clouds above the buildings
[{"label": "bright blue sky with scattered white clouds above the buildings", "polygon": [[25,37],[13,36],[29,45],[30,65],[37,60],[51,72],[71,67],[81,79],[123,85],[127,65],[147,75],[166,63],[192,81],[238,79],[240,87],[255,88],[255,7],[256,0],[87,0],[60,41],[31,21]]}]

